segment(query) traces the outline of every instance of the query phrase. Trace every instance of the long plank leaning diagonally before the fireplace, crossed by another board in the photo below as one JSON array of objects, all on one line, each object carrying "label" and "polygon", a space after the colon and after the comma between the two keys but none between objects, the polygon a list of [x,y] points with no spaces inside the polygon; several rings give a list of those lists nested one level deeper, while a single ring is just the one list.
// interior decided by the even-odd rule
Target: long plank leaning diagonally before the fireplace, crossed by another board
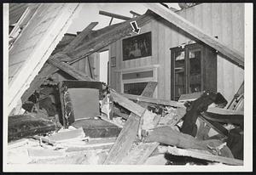
[{"label": "long plank leaning diagonally before the fireplace, crossed by another board", "polygon": [[[148,82],[148,85],[143,90],[142,96],[145,94],[148,97],[152,97],[154,93],[154,89],[157,86],[157,82]],[[129,101],[129,100],[128,100]],[[137,102],[140,104],[140,102]],[[143,107],[147,107],[147,104],[143,104]],[[143,115],[145,114],[143,111]],[[140,115],[141,117],[144,117]],[[140,116],[135,113],[131,113],[128,120],[125,122],[125,126],[122,129],[121,133],[119,133],[119,137],[116,142],[113,144],[112,149],[109,151],[107,159],[104,161],[104,164],[119,164],[120,161],[128,154],[129,150],[131,150],[131,146],[137,136],[138,127],[140,124]]]}]

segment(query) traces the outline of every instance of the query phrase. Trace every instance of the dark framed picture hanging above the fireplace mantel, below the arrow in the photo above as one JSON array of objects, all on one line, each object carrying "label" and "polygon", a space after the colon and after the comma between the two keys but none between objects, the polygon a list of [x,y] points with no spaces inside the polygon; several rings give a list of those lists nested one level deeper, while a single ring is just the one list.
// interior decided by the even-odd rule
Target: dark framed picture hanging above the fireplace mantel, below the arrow
[{"label": "dark framed picture hanging above the fireplace mantel, below the arrow", "polygon": [[152,55],[151,31],[123,40],[123,60],[139,59]]}]

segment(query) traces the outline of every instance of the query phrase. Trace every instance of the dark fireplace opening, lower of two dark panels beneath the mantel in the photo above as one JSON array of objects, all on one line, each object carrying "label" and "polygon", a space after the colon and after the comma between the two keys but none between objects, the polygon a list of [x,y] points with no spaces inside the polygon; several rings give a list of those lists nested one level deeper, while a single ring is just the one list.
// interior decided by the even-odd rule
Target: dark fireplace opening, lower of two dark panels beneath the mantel
[{"label": "dark fireplace opening, lower of two dark panels beneath the mantel", "polygon": [[134,82],[124,84],[124,93],[141,95],[148,82]]}]

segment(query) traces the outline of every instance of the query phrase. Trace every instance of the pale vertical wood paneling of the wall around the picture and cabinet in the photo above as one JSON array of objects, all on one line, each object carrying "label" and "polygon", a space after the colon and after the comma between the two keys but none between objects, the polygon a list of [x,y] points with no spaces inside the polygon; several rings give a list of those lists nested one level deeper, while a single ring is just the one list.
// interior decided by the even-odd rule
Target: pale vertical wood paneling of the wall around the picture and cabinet
[{"label": "pale vertical wood paneling of the wall around the picture and cabinet", "polygon": [[[243,3],[201,3],[178,11],[177,14],[195,24],[212,37],[244,54],[244,4]],[[110,85],[121,91],[121,70],[160,65],[157,72],[160,99],[171,99],[171,51],[170,48],[193,40],[188,33],[171,25],[166,20],[151,21],[142,27],[141,33],[152,31],[152,56],[122,61],[122,41],[111,44],[109,58],[116,57],[116,67],[111,67]],[[134,34],[132,34],[133,36]],[[218,54],[219,93],[230,101],[244,80],[244,71]]]}]

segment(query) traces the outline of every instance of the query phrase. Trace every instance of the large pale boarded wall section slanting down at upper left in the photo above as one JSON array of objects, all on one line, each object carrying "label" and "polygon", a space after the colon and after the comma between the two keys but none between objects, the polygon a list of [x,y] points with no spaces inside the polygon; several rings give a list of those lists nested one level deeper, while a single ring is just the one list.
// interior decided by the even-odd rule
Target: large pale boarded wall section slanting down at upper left
[{"label": "large pale boarded wall section slanting down at upper left", "polygon": [[78,3],[40,4],[20,33],[9,50],[8,113],[43,67],[78,9]]}]

